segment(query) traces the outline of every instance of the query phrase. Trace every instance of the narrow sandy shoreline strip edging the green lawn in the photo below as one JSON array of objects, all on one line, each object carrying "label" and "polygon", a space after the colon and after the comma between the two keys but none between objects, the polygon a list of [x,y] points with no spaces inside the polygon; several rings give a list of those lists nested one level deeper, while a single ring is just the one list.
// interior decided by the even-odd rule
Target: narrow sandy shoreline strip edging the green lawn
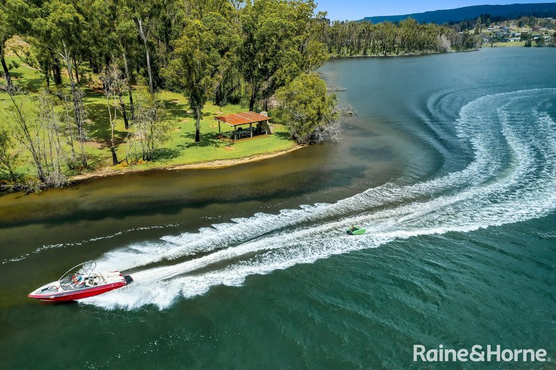
[{"label": "narrow sandy shoreline strip edging the green lawn", "polygon": [[174,169],[219,169],[219,168],[231,167],[235,165],[242,165],[244,163],[249,163],[249,162],[256,162],[259,160],[265,160],[268,158],[274,158],[277,157],[278,155],[291,153],[292,151],[296,151],[297,149],[304,148],[305,146],[307,145],[296,144],[290,149],[276,151],[274,153],[250,155],[248,157],[226,159],[226,160],[212,160],[210,162],[190,163],[188,165],[174,165],[168,167],[156,167],[156,168],[147,168],[147,169],[141,167],[138,168],[128,167],[125,170],[117,170],[117,169],[113,169],[113,167],[104,167],[102,169],[99,169],[95,172],[90,172],[88,174],[80,174],[80,175],[72,176],[72,178],[70,178],[70,183],[73,184],[81,183],[83,181],[92,180],[95,178],[118,176],[118,175],[125,175],[125,174],[136,174],[138,172],[147,172],[147,171],[168,171]]}]

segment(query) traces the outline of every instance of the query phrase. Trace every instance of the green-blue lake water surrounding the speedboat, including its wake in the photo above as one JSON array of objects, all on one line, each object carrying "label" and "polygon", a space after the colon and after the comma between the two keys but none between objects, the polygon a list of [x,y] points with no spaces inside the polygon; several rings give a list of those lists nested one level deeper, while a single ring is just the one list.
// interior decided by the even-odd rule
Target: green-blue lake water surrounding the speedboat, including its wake
[{"label": "green-blue lake water surrounding the speedboat, including its wake", "polygon": [[[555,71],[548,48],[331,60],[357,112],[338,144],[0,197],[2,367],[422,368],[414,344],[555,358]],[[85,260],[136,281],[26,297]]]}]

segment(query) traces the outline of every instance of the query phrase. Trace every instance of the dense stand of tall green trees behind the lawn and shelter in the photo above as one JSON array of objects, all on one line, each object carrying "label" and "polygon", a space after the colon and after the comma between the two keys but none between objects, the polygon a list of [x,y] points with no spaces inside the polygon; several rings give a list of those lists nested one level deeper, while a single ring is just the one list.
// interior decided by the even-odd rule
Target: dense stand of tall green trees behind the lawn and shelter
[{"label": "dense stand of tall green trees behind the lawn and shelter", "polygon": [[[44,74],[47,87],[60,85],[65,69],[72,89],[79,89],[82,66],[98,74],[115,64],[130,86],[141,82],[154,92],[163,87],[202,88],[206,83],[216,103],[247,97],[253,109],[288,78],[327,60],[313,32],[313,1],[1,0],[1,4],[2,60],[6,40],[19,35],[29,47],[17,55]],[[193,74],[183,75],[193,59],[201,63],[191,69]],[[9,85],[8,67],[5,62],[2,66]]]}]

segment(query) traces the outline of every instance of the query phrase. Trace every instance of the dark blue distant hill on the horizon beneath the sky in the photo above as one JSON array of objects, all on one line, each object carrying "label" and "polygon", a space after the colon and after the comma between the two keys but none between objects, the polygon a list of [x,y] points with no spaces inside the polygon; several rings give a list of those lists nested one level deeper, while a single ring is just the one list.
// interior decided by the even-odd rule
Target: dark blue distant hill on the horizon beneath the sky
[{"label": "dark blue distant hill on the horizon beneath the sky", "polygon": [[444,24],[448,22],[461,22],[468,19],[476,19],[482,14],[505,19],[518,19],[523,16],[556,17],[556,3],[531,3],[510,5],[477,5],[449,10],[434,10],[431,12],[413,13],[405,15],[382,15],[377,17],[365,17],[361,21],[380,23],[384,21],[398,22],[402,19],[413,18],[417,22],[434,22]]}]

